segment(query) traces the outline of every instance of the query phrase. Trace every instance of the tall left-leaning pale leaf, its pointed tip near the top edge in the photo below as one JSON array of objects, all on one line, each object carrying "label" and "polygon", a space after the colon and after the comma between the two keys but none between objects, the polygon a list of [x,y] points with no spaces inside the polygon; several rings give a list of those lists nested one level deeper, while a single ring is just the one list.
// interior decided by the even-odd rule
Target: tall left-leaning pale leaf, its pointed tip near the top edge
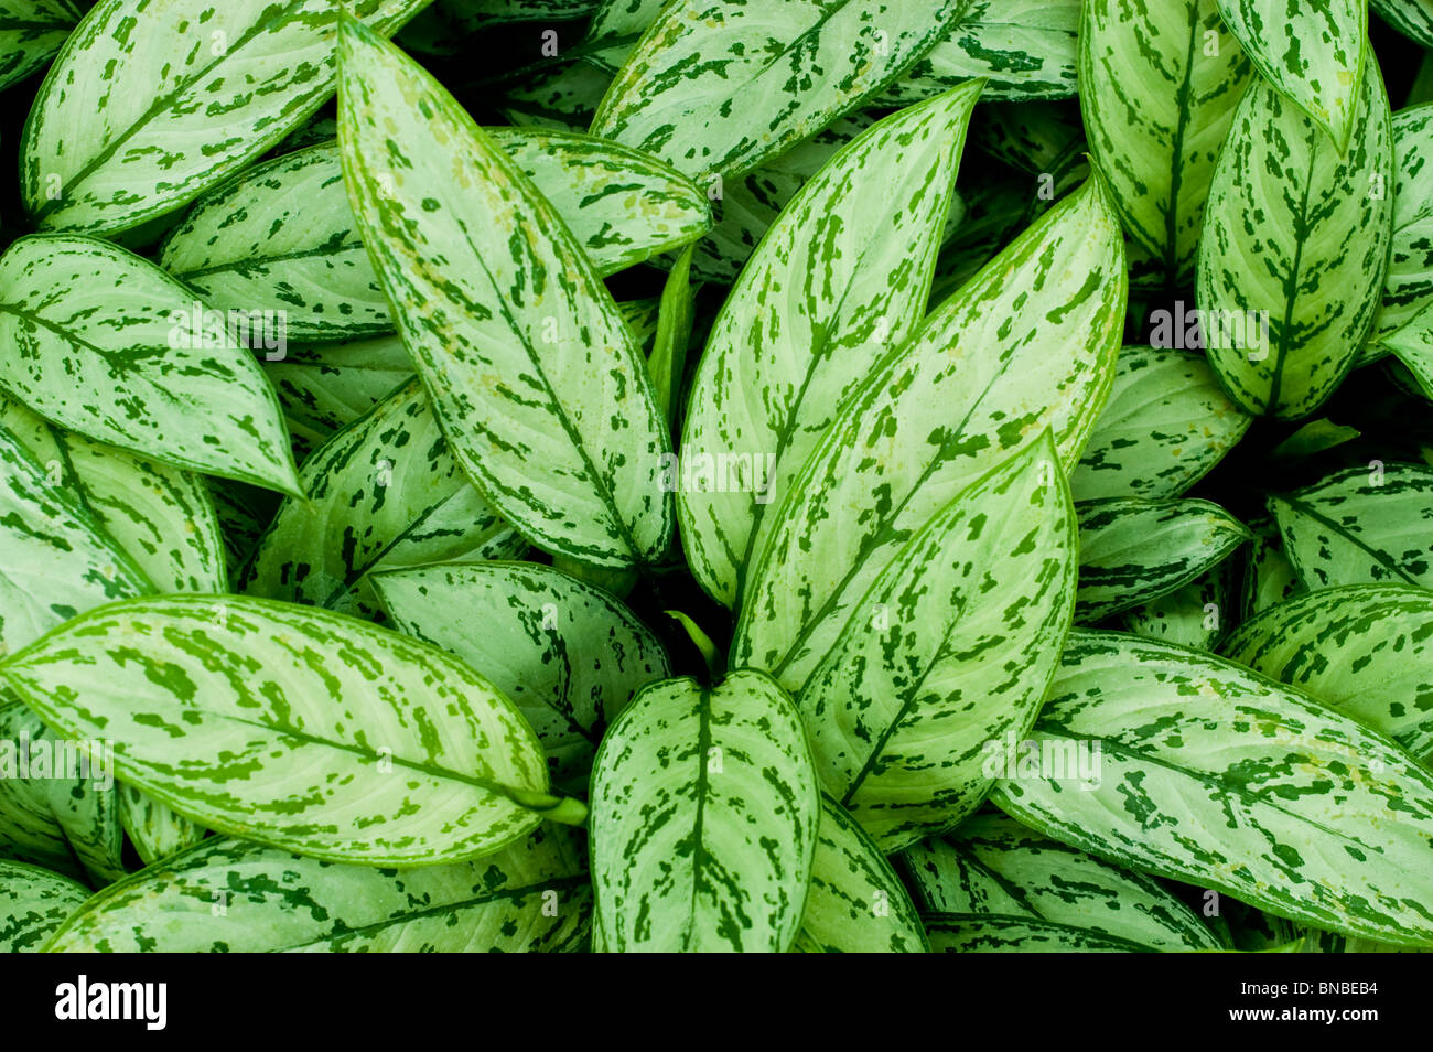
[{"label": "tall left-leaning pale leaf, its pointed tip near the top edge", "polygon": [[593,566],[658,559],[672,533],[666,426],[582,248],[401,52],[351,20],[340,50],[348,195],[454,459],[547,550]]}]

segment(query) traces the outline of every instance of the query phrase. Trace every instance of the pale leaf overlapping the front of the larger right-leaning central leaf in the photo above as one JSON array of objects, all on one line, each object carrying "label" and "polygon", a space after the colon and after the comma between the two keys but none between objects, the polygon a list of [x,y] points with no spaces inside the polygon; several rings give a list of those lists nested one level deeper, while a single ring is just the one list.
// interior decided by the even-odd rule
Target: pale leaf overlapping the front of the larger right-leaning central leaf
[{"label": "pale leaf overlapping the front of the larger right-leaning central leaf", "polygon": [[1075,599],[1075,509],[1049,433],[886,566],[797,698],[817,777],[883,851],[984,800],[983,747],[1035,721]]}]

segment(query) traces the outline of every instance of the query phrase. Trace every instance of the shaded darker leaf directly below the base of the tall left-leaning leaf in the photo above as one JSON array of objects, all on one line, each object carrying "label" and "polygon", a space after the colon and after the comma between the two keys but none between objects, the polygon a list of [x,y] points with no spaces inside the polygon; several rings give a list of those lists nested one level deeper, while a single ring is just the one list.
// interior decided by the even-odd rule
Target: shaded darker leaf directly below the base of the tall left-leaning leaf
[{"label": "shaded darker leaf directly below the base of the tall left-leaning leaf", "polygon": [[461,658],[537,731],[555,784],[586,787],[598,741],[666,651],[608,592],[533,563],[384,570],[373,586],[406,633]]}]

